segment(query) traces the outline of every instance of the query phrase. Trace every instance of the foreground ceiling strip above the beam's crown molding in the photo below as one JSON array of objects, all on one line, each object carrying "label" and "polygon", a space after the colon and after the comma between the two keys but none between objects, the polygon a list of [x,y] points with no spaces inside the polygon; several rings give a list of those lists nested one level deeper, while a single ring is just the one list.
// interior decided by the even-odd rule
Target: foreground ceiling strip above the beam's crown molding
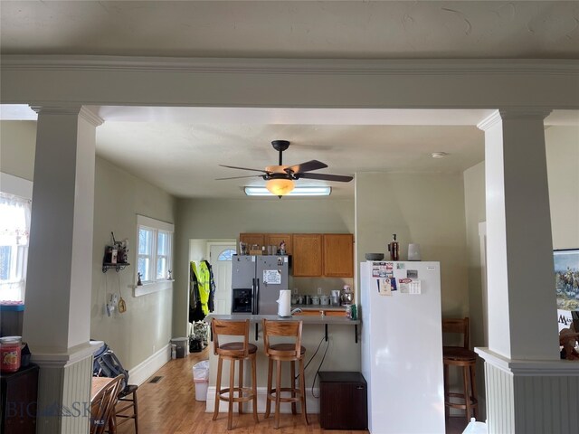
[{"label": "foreground ceiling strip above the beam's crown molding", "polygon": [[6,1],[5,54],[576,59],[579,2]]}]

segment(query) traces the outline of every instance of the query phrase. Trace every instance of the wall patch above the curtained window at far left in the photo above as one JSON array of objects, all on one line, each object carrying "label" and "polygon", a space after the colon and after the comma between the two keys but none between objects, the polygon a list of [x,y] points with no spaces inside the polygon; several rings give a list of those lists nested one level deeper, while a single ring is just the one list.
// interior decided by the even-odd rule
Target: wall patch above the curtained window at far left
[{"label": "wall patch above the curtained window at far left", "polygon": [[0,172],[33,180],[36,121],[3,120],[0,124]]}]

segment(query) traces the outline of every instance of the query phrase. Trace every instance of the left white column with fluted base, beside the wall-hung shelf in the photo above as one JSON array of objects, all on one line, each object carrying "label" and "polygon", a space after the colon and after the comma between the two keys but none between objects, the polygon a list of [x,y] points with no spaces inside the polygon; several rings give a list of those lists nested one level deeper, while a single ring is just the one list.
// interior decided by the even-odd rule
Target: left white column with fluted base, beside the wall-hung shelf
[{"label": "left white column with fluted base, beside the wall-hung shelf", "polygon": [[37,432],[85,432],[95,129],[102,119],[80,106],[33,109],[38,123],[23,337],[41,367]]}]

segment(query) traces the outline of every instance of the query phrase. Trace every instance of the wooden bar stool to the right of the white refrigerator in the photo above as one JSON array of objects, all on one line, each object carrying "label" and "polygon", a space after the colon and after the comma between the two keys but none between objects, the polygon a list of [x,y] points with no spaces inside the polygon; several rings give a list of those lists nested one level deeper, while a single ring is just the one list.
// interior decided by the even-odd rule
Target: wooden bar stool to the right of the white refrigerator
[{"label": "wooden bar stool to the right of the white refrigerator", "polygon": [[[442,346],[444,364],[444,415],[448,419],[450,409],[465,410],[467,421],[474,414],[479,416],[477,382],[475,371],[477,354],[469,346],[469,318],[442,319],[442,333],[453,333],[462,336],[462,346]],[[449,391],[449,366],[457,366],[462,371],[462,393]],[[455,401],[451,401],[454,398]],[[458,400],[459,402],[456,402]]]}]

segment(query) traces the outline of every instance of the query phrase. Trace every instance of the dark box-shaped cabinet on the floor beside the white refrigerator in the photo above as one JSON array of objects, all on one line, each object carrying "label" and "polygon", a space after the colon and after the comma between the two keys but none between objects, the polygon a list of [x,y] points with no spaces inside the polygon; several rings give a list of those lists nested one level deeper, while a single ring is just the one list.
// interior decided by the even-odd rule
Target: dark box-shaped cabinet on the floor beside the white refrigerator
[{"label": "dark box-shaped cabinet on the floor beside the white refrigerator", "polygon": [[319,425],[323,429],[367,429],[367,385],[361,373],[321,372]]}]

